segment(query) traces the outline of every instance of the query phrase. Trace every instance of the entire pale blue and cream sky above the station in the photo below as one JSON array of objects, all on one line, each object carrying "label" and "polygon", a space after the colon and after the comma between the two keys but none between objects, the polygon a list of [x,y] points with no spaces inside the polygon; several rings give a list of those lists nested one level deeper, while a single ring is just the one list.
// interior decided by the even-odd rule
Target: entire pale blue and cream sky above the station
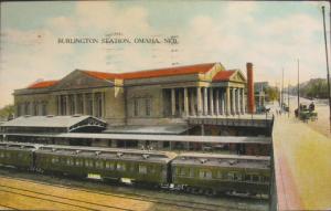
[{"label": "entire pale blue and cream sky above the station", "polygon": [[[220,62],[245,73],[252,62],[255,81],[280,85],[284,70],[285,84],[293,85],[299,59],[301,82],[325,78],[321,6],[329,14],[323,1],[1,2],[0,107],[13,103],[14,89],[76,68],[121,73]],[[178,44],[134,42],[169,36]],[[58,43],[84,38],[131,43]]]}]

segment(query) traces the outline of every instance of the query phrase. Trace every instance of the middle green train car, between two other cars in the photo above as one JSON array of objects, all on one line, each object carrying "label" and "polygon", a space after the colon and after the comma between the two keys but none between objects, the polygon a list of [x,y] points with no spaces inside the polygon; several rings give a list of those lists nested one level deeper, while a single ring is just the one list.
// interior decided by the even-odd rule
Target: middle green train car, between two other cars
[{"label": "middle green train car, between two other cars", "polygon": [[42,171],[131,182],[168,182],[168,166],[175,155],[119,148],[43,146],[35,151]]}]

